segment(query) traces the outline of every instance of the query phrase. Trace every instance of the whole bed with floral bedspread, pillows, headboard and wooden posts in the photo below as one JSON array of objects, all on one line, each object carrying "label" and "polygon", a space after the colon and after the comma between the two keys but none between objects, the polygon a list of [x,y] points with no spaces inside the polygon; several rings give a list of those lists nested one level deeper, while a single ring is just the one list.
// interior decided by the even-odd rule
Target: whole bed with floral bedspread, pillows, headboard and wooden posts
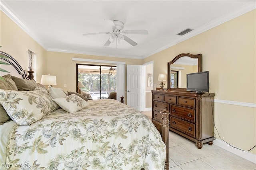
[{"label": "whole bed with floral bedspread, pillows, headboard and wooden posts", "polygon": [[47,90],[2,51],[1,68],[1,169],[169,169],[168,111],[154,125],[117,100]]}]

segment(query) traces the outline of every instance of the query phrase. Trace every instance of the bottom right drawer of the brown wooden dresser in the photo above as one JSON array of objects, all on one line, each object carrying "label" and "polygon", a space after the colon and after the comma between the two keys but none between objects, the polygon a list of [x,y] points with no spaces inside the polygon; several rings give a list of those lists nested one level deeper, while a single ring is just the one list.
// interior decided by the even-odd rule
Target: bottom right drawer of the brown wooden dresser
[{"label": "bottom right drawer of the brown wooden dresser", "polygon": [[191,137],[196,137],[196,129],[193,123],[183,121],[181,119],[170,117],[170,127],[182,131]]}]

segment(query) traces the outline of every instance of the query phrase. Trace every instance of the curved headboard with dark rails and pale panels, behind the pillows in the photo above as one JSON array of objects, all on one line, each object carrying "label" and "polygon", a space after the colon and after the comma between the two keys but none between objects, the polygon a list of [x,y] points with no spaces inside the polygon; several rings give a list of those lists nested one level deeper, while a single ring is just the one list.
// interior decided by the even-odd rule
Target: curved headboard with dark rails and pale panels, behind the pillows
[{"label": "curved headboard with dark rails and pale panels, behind the pillows", "polygon": [[23,70],[20,64],[18,64],[18,62],[12,56],[3,51],[0,51],[0,55],[1,76],[11,74],[12,76],[16,76],[18,78],[29,79],[26,70]]}]

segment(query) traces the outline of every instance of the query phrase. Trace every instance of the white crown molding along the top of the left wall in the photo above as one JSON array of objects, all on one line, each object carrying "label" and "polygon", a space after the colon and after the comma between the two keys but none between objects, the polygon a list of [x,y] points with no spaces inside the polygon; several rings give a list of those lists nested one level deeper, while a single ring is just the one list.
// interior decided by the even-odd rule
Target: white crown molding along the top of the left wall
[{"label": "white crown molding along the top of the left wall", "polygon": [[24,23],[21,20],[19,20],[13,12],[9,10],[8,5],[6,5],[6,3],[3,1],[0,1],[0,10],[4,12],[4,14],[6,14],[12,21],[14,21],[14,23],[16,23],[21,29],[23,29],[23,31],[25,31],[39,45],[41,45],[45,50],[47,50],[48,47],[40,40],[40,38],[38,38],[38,36],[35,33],[33,33],[33,31],[28,29],[28,27],[26,27],[26,25],[24,25]]}]

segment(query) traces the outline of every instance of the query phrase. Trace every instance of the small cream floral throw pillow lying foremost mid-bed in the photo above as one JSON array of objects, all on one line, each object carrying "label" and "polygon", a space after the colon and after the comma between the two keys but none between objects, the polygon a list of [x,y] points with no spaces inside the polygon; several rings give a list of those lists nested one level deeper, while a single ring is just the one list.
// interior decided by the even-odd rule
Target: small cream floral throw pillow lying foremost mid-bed
[{"label": "small cream floral throw pillow lying foremost mid-bed", "polygon": [[89,106],[88,102],[75,94],[52,100],[54,100],[62,109],[69,113],[75,113],[76,111]]}]

